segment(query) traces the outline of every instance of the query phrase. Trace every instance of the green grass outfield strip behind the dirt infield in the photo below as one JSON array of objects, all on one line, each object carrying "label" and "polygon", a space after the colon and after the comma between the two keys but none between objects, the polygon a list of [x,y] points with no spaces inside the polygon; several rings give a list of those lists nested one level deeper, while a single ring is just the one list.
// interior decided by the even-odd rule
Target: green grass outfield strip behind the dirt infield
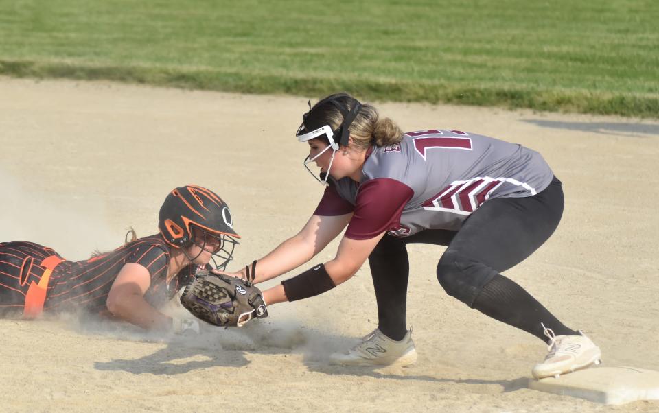
[{"label": "green grass outfield strip behind the dirt infield", "polygon": [[0,73],[659,117],[659,1],[0,0]]}]

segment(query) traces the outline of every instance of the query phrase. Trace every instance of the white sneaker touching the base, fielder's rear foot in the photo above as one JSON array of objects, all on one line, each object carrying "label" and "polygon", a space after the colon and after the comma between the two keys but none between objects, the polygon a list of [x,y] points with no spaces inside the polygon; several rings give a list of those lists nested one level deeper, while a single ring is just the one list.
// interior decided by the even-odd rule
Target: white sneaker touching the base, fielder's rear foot
[{"label": "white sneaker touching the base, fielder's rear foot", "polygon": [[586,337],[583,331],[579,333],[580,335],[554,335],[551,329],[544,327],[544,335],[551,340],[549,353],[544,357],[544,362],[533,367],[533,377],[558,378],[564,373],[572,373],[591,364],[600,364],[602,352],[599,347]]}]

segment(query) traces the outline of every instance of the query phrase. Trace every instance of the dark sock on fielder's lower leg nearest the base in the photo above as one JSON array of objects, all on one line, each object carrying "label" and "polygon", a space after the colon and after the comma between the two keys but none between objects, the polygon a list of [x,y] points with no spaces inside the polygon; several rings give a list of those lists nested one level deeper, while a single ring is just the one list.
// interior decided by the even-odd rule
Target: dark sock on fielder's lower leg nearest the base
[{"label": "dark sock on fielder's lower leg nearest the base", "polygon": [[548,338],[543,333],[541,322],[555,335],[578,334],[555,318],[518,283],[500,274],[485,284],[474,300],[474,308],[495,320],[527,331],[544,342],[548,342]]}]

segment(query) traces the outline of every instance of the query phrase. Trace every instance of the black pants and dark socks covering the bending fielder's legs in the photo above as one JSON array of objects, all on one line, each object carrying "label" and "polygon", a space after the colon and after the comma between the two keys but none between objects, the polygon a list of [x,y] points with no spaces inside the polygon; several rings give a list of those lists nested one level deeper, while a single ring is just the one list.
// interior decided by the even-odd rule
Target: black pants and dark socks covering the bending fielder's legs
[{"label": "black pants and dark socks covering the bending fielder's legs", "polygon": [[574,333],[522,287],[500,275],[550,237],[563,205],[561,182],[553,178],[535,196],[488,200],[459,231],[426,230],[404,238],[385,235],[369,256],[380,331],[394,340],[406,332],[406,244],[422,243],[448,246],[437,264],[437,279],[450,296],[543,340],[540,322],[551,325],[557,334]]}]

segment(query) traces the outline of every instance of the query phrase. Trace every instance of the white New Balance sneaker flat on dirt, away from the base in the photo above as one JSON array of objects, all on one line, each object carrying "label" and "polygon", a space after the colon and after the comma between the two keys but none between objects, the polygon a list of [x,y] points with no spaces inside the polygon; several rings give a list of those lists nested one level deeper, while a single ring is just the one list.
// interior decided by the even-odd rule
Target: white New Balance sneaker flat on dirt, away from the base
[{"label": "white New Balance sneaker flat on dirt, away from the base", "polygon": [[417,361],[417,351],[412,341],[412,329],[400,341],[392,340],[375,329],[362,338],[347,353],[334,353],[329,356],[332,364],[339,366],[410,366]]}]

